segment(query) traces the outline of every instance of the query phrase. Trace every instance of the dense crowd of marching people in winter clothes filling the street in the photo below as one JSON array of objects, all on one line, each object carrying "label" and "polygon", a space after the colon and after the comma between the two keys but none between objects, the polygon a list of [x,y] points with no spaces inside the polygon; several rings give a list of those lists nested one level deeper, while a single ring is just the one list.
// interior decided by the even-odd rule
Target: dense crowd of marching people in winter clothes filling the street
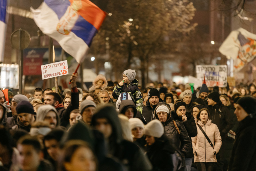
[{"label": "dense crowd of marching people in winter clothes filling the street", "polygon": [[98,75],[88,90],[0,90],[0,170],[256,170],[255,85],[207,87]]}]

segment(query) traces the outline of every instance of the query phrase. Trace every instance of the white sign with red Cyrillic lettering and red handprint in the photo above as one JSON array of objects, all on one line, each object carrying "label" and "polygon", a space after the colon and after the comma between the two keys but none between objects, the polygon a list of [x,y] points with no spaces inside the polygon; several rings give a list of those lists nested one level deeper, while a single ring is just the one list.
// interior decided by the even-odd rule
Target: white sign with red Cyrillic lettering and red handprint
[{"label": "white sign with red Cyrillic lettering and red handprint", "polygon": [[68,74],[67,60],[41,65],[42,78],[48,79]]}]

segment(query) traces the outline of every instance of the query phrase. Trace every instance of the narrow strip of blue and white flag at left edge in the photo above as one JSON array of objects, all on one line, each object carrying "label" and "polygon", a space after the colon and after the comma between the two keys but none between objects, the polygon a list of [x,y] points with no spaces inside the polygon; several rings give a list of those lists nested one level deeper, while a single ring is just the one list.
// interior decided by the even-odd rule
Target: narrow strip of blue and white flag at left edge
[{"label": "narrow strip of blue and white flag at left edge", "polygon": [[7,0],[0,0],[0,62],[4,59]]}]

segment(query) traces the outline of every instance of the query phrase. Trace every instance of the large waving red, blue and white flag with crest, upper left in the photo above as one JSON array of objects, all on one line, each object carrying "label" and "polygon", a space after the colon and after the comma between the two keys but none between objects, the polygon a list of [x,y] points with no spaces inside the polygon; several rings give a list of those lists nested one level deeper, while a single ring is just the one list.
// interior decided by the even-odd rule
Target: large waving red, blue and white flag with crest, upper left
[{"label": "large waving red, blue and white flag with crest, upper left", "polygon": [[38,9],[30,10],[40,30],[55,39],[78,63],[84,60],[106,17],[89,0],[45,0]]}]

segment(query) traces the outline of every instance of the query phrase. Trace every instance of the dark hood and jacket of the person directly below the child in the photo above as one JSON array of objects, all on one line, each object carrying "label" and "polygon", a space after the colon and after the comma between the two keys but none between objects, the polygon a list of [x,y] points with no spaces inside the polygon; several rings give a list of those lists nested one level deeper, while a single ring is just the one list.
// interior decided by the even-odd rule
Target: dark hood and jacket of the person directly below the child
[{"label": "dark hood and jacket of the person directly below the child", "polygon": [[124,114],[125,110],[128,108],[133,108],[133,118],[139,118],[143,123],[146,122],[145,119],[142,117],[141,113],[137,112],[136,106],[132,100],[123,100],[120,104],[118,114]]}]

